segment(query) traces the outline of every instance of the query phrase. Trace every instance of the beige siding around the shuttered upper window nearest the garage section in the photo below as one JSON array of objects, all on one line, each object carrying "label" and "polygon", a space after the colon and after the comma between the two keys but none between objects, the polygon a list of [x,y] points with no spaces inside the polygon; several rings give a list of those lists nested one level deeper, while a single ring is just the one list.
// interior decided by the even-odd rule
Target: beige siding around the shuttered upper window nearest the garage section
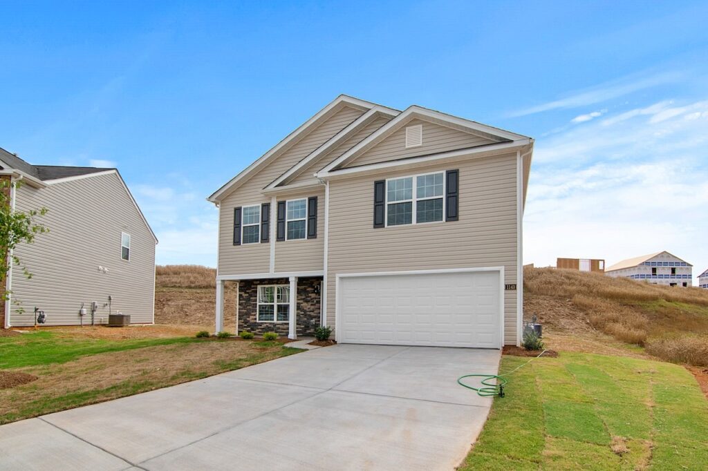
[{"label": "beige siding around the shuttered upper window nearest the garage section", "polygon": [[281,240],[275,243],[275,272],[324,269],[324,190],[287,199],[317,197],[317,238]]}]

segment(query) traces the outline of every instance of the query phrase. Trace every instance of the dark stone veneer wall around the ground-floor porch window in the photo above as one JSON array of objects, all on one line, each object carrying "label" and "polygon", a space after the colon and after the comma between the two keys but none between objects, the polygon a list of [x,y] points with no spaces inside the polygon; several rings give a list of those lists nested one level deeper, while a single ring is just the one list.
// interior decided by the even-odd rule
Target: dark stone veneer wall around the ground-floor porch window
[{"label": "dark stone veneer wall around the ground-floor porch window", "polygon": [[[314,328],[320,324],[321,282],[321,278],[297,279],[295,321],[298,336],[314,335]],[[247,330],[256,335],[263,335],[263,332],[278,332],[282,337],[287,337],[287,322],[256,322],[258,285],[261,284],[290,284],[290,281],[287,278],[239,281],[239,332]]]}]

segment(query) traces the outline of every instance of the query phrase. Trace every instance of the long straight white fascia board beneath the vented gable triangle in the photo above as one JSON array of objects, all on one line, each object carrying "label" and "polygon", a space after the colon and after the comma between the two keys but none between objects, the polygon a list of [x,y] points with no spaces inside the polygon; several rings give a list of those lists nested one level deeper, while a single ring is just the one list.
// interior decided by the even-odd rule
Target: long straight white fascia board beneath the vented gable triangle
[{"label": "long straight white fascia board beneath the vented gable triangle", "polygon": [[485,153],[496,153],[498,151],[510,151],[512,149],[517,149],[523,146],[527,146],[530,144],[529,141],[532,139],[524,139],[521,141],[513,141],[513,142],[502,142],[500,144],[489,144],[487,146],[477,146],[477,147],[472,147],[468,149],[459,149],[457,151],[447,151],[447,152],[440,152],[440,153],[434,153],[429,156],[419,156],[419,157],[411,157],[411,158],[404,158],[401,160],[397,161],[388,161],[388,162],[379,162],[379,163],[369,163],[367,165],[360,165],[358,167],[350,167],[350,168],[341,168],[338,170],[331,170],[331,171],[325,171],[321,170],[320,172],[316,173],[315,176],[317,178],[321,178],[322,180],[331,180],[332,178],[338,178],[338,177],[345,177],[349,175],[354,175],[358,173],[364,173],[364,172],[372,172],[372,171],[377,171],[377,170],[384,170],[387,168],[395,168],[395,167],[400,167],[400,166],[410,166],[410,165],[416,165],[416,164],[421,164],[421,163],[429,163],[429,162],[435,162],[435,161],[443,161],[443,160],[450,160],[454,158],[462,158],[462,157],[467,157],[467,156],[478,156],[477,154],[485,154]]}]

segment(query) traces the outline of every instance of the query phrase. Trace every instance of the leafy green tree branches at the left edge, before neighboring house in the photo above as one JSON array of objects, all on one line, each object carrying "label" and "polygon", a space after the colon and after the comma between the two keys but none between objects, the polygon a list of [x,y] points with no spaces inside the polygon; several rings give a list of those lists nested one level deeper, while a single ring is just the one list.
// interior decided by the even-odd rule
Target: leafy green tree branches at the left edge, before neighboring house
[{"label": "leafy green tree branches at the left edge, before neighboring house", "polygon": [[[47,214],[47,208],[28,211],[12,209],[10,194],[19,185],[21,182],[13,182],[8,178],[0,180],[0,254],[4,255],[1,257],[4,263],[0,263],[0,280],[5,279],[12,264],[22,267],[25,277],[32,278],[27,267],[23,266],[19,257],[13,253],[13,249],[21,243],[33,243],[35,236],[49,232],[49,228],[36,221],[38,216]],[[4,283],[0,286],[0,292],[1,299],[6,300],[9,293],[4,291]]]}]

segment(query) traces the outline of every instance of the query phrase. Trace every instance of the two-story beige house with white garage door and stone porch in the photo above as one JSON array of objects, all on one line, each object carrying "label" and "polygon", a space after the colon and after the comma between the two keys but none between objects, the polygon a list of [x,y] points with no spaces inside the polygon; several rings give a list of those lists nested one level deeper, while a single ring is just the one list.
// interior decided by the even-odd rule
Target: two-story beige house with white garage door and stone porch
[{"label": "two-story beige house with white garage door and stone porch", "polygon": [[209,197],[217,330],[232,280],[238,330],[518,344],[532,149],[485,124],[341,95]]}]

